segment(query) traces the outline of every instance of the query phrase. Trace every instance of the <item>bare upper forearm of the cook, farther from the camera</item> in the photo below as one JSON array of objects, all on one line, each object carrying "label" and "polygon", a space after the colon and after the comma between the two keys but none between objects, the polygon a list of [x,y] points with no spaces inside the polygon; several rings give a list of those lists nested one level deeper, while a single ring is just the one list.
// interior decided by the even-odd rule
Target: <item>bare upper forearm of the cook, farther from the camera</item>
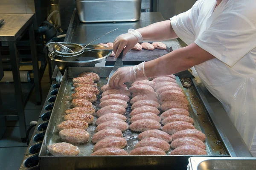
[{"label": "bare upper forearm of the cook, farther from the camera", "polygon": [[162,41],[178,37],[173,31],[170,20],[154,23],[144,28],[139,28],[137,31],[140,32],[144,41]]}]

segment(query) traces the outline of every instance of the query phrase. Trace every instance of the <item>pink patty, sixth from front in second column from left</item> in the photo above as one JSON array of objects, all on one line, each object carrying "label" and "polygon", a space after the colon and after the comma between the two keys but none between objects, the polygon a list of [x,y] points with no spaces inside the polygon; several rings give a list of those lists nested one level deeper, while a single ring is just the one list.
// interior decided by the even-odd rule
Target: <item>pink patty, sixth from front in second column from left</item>
[{"label": "pink patty, sixth from front in second column from left", "polygon": [[96,112],[96,116],[100,117],[100,116],[108,114],[108,113],[125,114],[125,112],[126,112],[126,110],[122,106],[108,105],[108,106],[105,106],[105,107],[99,109],[99,111]]}]

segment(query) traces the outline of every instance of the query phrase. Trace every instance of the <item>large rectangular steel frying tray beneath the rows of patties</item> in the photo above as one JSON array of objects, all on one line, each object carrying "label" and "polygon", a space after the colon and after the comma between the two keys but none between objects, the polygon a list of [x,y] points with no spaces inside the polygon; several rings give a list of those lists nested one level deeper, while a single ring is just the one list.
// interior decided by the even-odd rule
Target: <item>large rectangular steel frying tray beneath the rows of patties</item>
[{"label": "large rectangular steel frying tray beneath the rows of patties", "polygon": [[[46,130],[44,142],[39,153],[39,162],[41,169],[76,169],[76,168],[117,168],[117,167],[163,167],[166,165],[186,167],[188,158],[191,156],[89,156],[92,153],[93,144],[88,142],[86,144],[77,145],[80,149],[78,156],[51,156],[49,155],[46,147],[49,144],[61,142],[58,131],[55,125],[63,121],[63,113],[66,109],[70,108],[71,94],[73,93],[72,78],[77,77],[78,74],[84,71],[92,71],[101,77],[98,87],[102,87],[107,83],[106,77],[112,71],[112,67],[68,67],[64,73],[58,95],[53,106],[52,115],[49,120],[49,125]],[[189,72],[180,73],[180,76],[189,75]],[[179,77],[176,77],[177,83],[182,87]],[[183,89],[188,96],[190,102],[189,112],[191,117],[195,120],[195,127],[203,131],[207,135],[206,145],[207,154],[209,156],[229,156],[225,150],[226,146],[222,144],[221,139],[218,139],[215,129],[209,122],[208,116],[204,111],[204,106],[195,94],[193,87]],[[100,94],[101,95],[101,94]],[[99,109],[99,99],[94,104],[96,111]],[[128,118],[131,111],[131,105],[127,108],[125,116]],[[96,120],[95,120],[96,121]],[[90,125],[88,132],[92,137],[96,126]],[[130,130],[124,132],[124,137],[128,141],[128,147],[125,148],[128,152],[131,151],[134,145],[138,142],[136,139],[138,133],[133,133]]]}]

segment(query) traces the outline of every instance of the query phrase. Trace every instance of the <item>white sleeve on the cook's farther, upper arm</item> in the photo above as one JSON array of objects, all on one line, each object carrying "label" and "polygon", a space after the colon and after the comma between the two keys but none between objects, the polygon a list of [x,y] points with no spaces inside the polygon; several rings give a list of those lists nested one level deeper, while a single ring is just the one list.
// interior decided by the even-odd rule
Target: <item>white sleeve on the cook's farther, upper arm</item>
[{"label": "white sleeve on the cook's farther, upper arm", "polygon": [[198,20],[202,1],[203,0],[196,1],[188,11],[170,18],[173,30],[186,44],[191,44],[195,41],[195,24]]}]

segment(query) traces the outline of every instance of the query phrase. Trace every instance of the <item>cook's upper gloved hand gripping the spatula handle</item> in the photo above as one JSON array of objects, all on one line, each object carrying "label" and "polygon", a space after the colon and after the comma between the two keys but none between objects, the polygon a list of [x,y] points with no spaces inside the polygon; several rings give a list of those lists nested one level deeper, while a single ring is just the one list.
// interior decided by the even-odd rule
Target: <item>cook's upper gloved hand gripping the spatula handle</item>
[{"label": "cook's upper gloved hand gripping the spatula handle", "polygon": [[129,50],[131,50],[131,48],[142,40],[140,32],[134,29],[129,29],[128,33],[119,35],[116,37],[113,45],[113,51],[116,54],[115,57],[117,58],[124,48],[125,55]]}]

